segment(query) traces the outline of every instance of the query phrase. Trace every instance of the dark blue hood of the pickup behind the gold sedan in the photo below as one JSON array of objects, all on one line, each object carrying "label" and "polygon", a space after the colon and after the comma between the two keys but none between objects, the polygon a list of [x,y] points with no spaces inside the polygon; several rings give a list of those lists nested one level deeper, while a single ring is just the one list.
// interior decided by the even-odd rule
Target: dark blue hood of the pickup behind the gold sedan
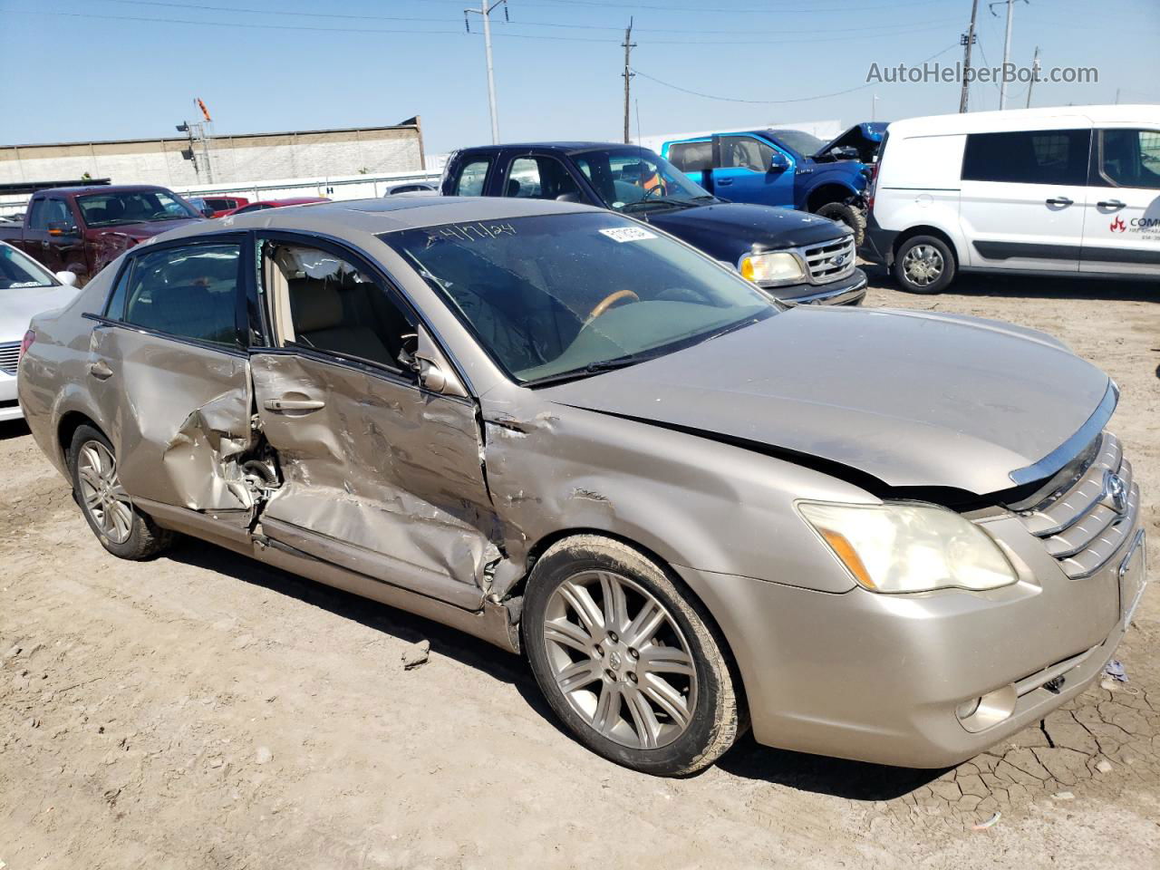
[{"label": "dark blue hood of the pickup behind the gold sedan", "polygon": [[833,220],[817,215],[749,203],[722,202],[633,217],[643,218],[730,264],[751,251],[817,245],[836,239],[844,232]]}]

